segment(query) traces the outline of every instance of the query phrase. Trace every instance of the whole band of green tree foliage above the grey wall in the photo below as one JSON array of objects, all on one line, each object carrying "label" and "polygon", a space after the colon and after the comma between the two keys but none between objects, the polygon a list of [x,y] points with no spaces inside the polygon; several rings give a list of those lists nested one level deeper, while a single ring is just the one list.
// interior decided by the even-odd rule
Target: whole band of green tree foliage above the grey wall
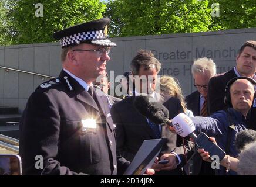
[{"label": "whole band of green tree foliage above the grey wall", "polygon": [[[35,16],[38,2],[43,17]],[[211,16],[213,3],[220,17]],[[110,37],[256,27],[256,0],[0,0],[0,45],[50,42],[53,32],[104,12]]]}]

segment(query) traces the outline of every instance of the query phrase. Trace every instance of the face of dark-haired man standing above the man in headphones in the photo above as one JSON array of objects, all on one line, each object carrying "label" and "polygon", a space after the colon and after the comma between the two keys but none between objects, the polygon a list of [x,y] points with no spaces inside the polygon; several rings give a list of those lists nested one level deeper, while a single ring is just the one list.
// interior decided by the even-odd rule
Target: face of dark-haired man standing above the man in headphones
[{"label": "face of dark-haired man standing above the man in headphones", "polygon": [[256,71],[256,50],[245,47],[244,51],[237,56],[237,70],[241,75],[252,76]]}]

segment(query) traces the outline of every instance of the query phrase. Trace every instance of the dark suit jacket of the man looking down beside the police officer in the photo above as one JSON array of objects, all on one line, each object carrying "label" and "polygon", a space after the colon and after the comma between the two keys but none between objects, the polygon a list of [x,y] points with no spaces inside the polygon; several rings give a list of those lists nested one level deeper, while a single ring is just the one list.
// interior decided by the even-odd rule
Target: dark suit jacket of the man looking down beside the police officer
[{"label": "dark suit jacket of the man looking down beside the police officer", "polygon": [[[133,101],[135,96],[129,96],[123,99],[111,108],[111,115],[114,123],[116,123],[117,134],[117,153],[122,155],[126,160],[132,161],[144,140],[155,139],[153,130],[151,130],[146,117],[140,115],[134,108]],[[170,119],[173,119],[178,113],[183,112],[180,100],[164,96],[164,106],[169,110]],[[166,138],[160,155],[175,151],[181,158],[181,164],[170,174],[181,174],[181,166],[185,163],[184,150],[181,146],[182,139],[174,133],[171,133],[166,127],[162,126],[162,138]],[[188,140],[186,142],[186,150],[188,155],[193,153],[194,144]],[[181,147],[177,147],[181,146]],[[159,155],[159,156],[160,156]]]}]

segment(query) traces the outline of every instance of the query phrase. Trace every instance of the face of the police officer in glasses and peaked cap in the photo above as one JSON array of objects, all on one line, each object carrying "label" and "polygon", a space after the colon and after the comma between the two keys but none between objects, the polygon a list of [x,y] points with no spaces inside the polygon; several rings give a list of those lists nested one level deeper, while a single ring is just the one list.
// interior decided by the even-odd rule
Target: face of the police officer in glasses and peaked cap
[{"label": "face of the police officer in glasses and peaked cap", "polygon": [[[95,46],[92,44],[82,43],[75,47],[75,49],[97,50],[102,46]],[[104,52],[100,54],[99,51],[74,51],[76,58],[76,71],[79,77],[88,82],[96,80],[99,75],[106,75],[106,64],[110,60],[109,55]]]}]

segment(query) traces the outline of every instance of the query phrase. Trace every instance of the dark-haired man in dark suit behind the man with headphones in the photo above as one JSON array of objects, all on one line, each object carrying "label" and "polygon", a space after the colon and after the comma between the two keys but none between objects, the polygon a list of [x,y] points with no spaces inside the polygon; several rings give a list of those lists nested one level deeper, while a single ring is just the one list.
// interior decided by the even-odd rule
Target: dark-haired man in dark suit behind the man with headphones
[{"label": "dark-haired man in dark suit behind the man with headphones", "polygon": [[[224,103],[225,85],[230,79],[239,76],[246,76],[256,80],[256,41],[246,41],[238,51],[236,58],[237,65],[224,74],[217,75],[210,79],[208,84],[208,112],[214,113],[227,108]],[[256,100],[251,106],[246,117],[250,129],[256,130]]]}]

